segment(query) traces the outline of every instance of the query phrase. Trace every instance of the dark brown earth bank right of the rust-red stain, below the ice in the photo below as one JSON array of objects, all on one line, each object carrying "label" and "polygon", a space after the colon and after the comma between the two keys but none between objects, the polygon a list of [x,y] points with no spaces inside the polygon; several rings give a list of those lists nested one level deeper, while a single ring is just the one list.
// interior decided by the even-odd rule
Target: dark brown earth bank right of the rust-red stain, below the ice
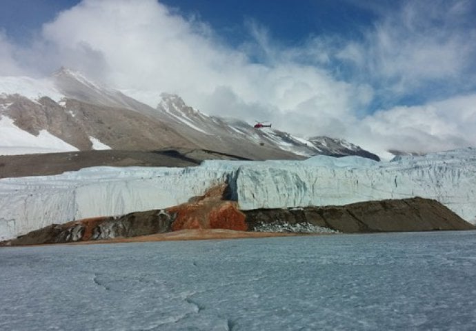
[{"label": "dark brown earth bank right of the rust-red stain, below the ice", "polygon": [[350,205],[246,210],[246,223],[257,230],[268,223],[312,224],[340,232],[470,230],[464,221],[432,199],[389,199]]}]

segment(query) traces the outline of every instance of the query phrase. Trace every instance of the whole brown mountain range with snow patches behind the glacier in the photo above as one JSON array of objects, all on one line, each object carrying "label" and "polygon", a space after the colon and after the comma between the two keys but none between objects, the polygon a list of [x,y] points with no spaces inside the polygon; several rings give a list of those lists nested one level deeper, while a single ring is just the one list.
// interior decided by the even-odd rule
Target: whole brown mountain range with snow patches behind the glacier
[{"label": "whole brown mountain range with snow patches behind the glacier", "polygon": [[[238,119],[211,117],[174,94],[151,108],[61,68],[50,79],[0,77],[0,154],[202,148],[249,159],[304,159],[315,154],[375,154],[339,139],[302,139]],[[7,130],[8,129],[8,130]]]}]

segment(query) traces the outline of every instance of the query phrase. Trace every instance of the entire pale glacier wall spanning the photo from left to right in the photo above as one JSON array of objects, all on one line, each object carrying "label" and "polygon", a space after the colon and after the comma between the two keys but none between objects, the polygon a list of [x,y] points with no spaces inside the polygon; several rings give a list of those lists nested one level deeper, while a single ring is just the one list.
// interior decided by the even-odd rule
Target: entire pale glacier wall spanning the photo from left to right
[{"label": "entire pale glacier wall spanning the photo from left to right", "polygon": [[166,208],[228,181],[242,210],[424,197],[476,223],[476,149],[377,162],[204,161],[192,168],[95,167],[0,179],[0,239],[52,223]]}]

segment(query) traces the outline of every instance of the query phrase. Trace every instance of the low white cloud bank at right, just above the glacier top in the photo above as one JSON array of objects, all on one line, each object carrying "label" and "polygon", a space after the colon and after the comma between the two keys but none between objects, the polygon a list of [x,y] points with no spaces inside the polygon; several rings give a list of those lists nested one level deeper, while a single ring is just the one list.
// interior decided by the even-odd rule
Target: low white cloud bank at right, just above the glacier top
[{"label": "low white cloud bank at right, just above the glacier top", "polygon": [[[436,152],[476,145],[476,94],[399,106],[366,117],[349,133],[354,143],[385,150]],[[362,134],[366,132],[366,134]]]}]

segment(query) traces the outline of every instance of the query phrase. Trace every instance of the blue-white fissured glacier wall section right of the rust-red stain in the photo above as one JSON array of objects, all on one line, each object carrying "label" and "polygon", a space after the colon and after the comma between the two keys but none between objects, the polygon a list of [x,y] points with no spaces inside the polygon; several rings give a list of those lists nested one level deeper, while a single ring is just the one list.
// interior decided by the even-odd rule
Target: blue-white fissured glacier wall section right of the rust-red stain
[{"label": "blue-white fissured glacier wall section right of the rust-red stain", "polygon": [[390,162],[324,156],[301,162],[268,161],[241,165],[235,180],[233,192],[243,210],[424,197],[476,223],[473,148]]}]

